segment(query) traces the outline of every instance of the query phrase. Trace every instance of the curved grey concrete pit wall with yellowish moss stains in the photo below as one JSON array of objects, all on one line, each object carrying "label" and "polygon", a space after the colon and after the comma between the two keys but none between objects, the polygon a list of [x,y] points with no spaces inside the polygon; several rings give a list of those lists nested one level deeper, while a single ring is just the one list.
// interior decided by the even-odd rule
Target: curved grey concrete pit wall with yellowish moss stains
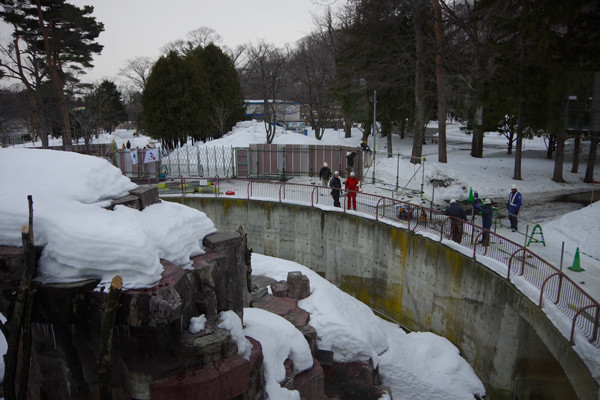
[{"label": "curved grey concrete pit wall with yellowish moss stains", "polygon": [[255,252],[305,265],[404,326],[448,338],[488,399],[600,398],[598,383],[546,315],[510,282],[449,247],[336,211],[175,201],[205,212],[221,231],[242,225]]}]

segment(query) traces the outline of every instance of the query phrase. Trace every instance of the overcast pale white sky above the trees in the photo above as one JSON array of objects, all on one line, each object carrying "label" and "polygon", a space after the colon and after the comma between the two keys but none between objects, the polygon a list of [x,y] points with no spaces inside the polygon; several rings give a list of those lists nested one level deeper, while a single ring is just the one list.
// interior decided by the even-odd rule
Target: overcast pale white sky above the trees
[{"label": "overcast pale white sky above the trees", "polygon": [[[313,15],[342,0],[70,0],[81,7],[94,6],[93,15],[104,24],[99,42],[102,54],[83,78],[114,78],[128,59],[158,58],[160,49],[200,27],[216,31],[222,45],[235,47],[264,39],[284,46],[293,44],[314,28]],[[0,40],[9,38],[0,28]]]}]

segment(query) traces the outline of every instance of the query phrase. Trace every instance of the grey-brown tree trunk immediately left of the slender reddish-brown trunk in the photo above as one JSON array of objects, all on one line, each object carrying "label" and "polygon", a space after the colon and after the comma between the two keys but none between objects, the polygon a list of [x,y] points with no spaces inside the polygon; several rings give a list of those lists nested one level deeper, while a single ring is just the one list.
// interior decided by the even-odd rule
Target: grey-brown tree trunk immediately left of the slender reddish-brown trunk
[{"label": "grey-brown tree trunk immediately left of the slender reddish-brown trunk", "polygon": [[425,126],[425,82],[423,71],[423,28],[421,26],[421,17],[419,1],[413,0],[413,13],[415,19],[415,128],[412,147],[412,157],[410,162],[413,164],[421,163],[423,155],[423,127]]}]

